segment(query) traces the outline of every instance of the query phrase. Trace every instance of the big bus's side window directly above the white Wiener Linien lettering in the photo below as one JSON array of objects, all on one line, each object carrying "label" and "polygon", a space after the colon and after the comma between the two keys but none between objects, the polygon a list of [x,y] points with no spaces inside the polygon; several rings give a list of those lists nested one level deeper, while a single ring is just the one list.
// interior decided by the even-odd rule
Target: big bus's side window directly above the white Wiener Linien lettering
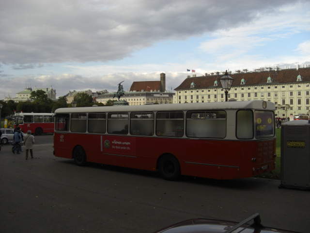
[{"label": "big bus's side window directly above the white Wiener Linien lettering", "polygon": [[128,134],[128,113],[109,113],[108,133]]}]

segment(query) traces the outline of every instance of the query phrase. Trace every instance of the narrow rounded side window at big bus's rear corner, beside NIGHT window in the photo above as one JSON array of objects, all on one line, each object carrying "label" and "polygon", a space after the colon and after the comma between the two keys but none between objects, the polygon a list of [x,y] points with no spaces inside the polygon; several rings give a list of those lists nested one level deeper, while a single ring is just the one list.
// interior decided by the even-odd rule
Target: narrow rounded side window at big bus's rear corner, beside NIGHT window
[{"label": "narrow rounded side window at big bus's rear corner, beside NIGHT window", "polygon": [[253,112],[251,110],[239,110],[237,112],[236,137],[251,139],[253,136]]}]

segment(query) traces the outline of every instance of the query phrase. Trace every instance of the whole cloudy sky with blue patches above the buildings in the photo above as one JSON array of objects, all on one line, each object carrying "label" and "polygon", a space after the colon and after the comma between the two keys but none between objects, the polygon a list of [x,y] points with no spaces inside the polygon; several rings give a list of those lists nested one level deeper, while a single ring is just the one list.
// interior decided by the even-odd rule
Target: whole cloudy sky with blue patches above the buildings
[{"label": "whole cloudy sky with blue patches above the buildings", "polygon": [[309,0],[0,0],[0,100],[310,64]]}]

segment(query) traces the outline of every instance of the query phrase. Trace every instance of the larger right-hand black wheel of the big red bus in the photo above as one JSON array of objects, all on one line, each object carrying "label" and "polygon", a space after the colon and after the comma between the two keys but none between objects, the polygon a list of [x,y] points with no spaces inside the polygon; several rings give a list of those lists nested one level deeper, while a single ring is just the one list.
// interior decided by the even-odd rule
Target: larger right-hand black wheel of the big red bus
[{"label": "larger right-hand black wheel of the big red bus", "polygon": [[180,178],[181,168],[179,161],[171,154],[163,155],[158,164],[160,175],[168,181]]}]

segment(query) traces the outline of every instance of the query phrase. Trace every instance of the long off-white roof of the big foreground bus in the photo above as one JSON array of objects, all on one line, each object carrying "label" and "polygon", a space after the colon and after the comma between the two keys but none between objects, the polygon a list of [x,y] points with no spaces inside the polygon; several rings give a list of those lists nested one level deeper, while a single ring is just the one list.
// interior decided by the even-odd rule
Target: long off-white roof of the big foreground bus
[{"label": "long off-white roof of the big foreground bus", "polygon": [[[263,108],[266,103],[266,108]],[[177,104],[152,104],[131,106],[104,106],[104,107],[78,107],[59,108],[55,113],[95,113],[95,112],[146,112],[146,111],[181,111],[181,110],[211,110],[211,109],[268,109],[275,110],[275,104],[270,101],[227,101],[204,103],[177,103]]]}]

